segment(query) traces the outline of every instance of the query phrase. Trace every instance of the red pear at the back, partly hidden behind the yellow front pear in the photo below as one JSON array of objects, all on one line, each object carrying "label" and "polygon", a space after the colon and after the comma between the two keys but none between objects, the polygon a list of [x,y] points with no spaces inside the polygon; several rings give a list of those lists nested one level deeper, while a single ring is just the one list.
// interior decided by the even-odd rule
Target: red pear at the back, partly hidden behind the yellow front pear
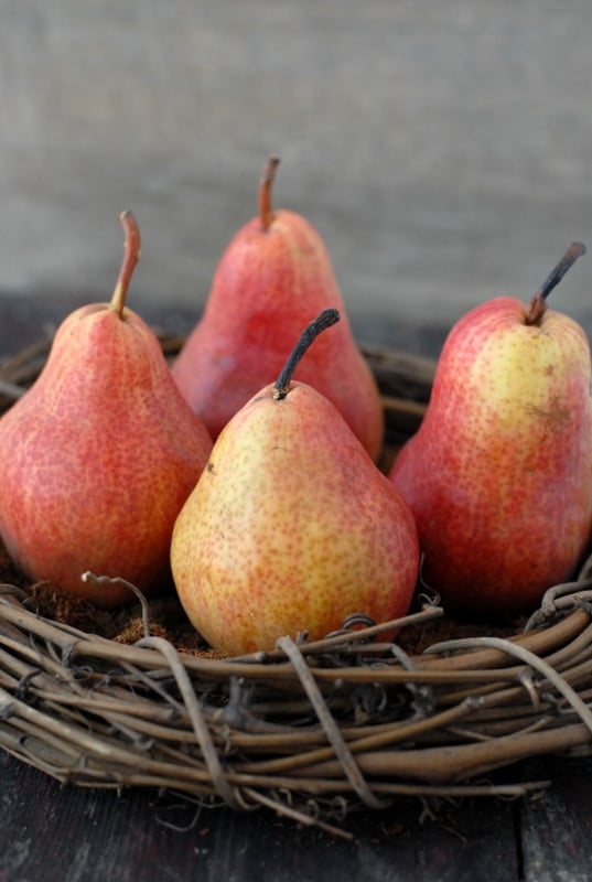
[{"label": "red pear at the back, partly hidden behind the yellow front pear", "polygon": [[271,158],[259,192],[259,216],[239,229],[216,268],[201,321],[173,364],[173,375],[214,439],[270,377],[301,329],[325,308],[342,320],[299,368],[341,411],[373,459],[384,435],[376,381],[359,352],[327,250],[301,215],[272,211],[279,160]]}]

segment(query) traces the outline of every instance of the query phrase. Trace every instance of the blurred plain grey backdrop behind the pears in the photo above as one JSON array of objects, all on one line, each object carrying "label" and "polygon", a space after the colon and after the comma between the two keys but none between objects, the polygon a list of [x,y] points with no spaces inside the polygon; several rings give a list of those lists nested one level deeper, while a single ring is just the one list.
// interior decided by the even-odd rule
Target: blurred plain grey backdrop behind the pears
[{"label": "blurred plain grey backdrop behind the pears", "polygon": [[128,207],[130,305],[196,319],[273,152],[275,205],[323,236],[358,336],[433,347],[480,301],[529,298],[575,238],[591,254],[552,302],[592,326],[590,0],[0,14],[0,299],[17,324],[110,297]]}]

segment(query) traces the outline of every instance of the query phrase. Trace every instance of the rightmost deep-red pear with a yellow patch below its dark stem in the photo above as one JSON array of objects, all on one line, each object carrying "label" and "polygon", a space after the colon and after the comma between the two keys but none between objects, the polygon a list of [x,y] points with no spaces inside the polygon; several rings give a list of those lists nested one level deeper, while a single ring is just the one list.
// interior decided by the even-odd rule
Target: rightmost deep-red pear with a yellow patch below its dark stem
[{"label": "rightmost deep-red pear with a yellow patch below its dark stem", "polygon": [[389,477],[416,516],[422,578],[458,613],[513,615],[569,579],[592,529],[591,356],[546,298],[494,298],[451,330],[418,432]]}]

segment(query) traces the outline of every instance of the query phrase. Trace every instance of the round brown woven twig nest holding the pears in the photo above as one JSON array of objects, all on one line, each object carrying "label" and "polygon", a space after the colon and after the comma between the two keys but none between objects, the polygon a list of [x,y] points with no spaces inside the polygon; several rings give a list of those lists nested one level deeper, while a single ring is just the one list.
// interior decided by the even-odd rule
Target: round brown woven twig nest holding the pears
[{"label": "round brown woven twig nest holding the pears", "polygon": [[[165,354],[181,341],[160,335]],[[36,377],[41,342],[0,367],[6,410]],[[365,347],[387,418],[385,467],[424,411],[434,365]],[[360,617],[311,643],[219,658],[174,596],[106,614],[0,584],[0,745],[61,782],[157,787],[208,804],[332,819],[399,796],[519,796],[547,782],[493,770],[592,741],[592,563],[527,622],[460,625],[419,596],[397,645]]]}]

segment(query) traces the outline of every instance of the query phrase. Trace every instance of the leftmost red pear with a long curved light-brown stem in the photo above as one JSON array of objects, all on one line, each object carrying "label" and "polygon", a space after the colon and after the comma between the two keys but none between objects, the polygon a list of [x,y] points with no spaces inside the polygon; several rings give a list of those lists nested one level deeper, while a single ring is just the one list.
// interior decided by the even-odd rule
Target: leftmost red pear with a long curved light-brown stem
[{"label": "leftmost red pear with a long curved light-brown stem", "polygon": [[109,607],[171,580],[173,524],[212,439],[179,392],[153,331],[125,305],[139,257],[133,215],[110,303],[60,325],[34,385],[0,419],[0,535],[32,580]]}]

